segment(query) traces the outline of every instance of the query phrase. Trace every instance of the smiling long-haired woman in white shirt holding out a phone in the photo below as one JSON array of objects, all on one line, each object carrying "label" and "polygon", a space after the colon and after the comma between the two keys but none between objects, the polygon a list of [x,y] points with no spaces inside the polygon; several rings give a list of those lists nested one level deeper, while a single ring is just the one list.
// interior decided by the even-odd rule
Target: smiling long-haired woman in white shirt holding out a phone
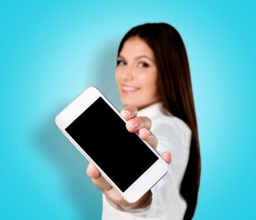
[{"label": "smiling long-haired woman in white shirt holding out a phone", "polygon": [[192,219],[201,159],[189,63],[178,31],[166,23],[131,28],[119,45],[116,80],[128,130],[139,132],[170,169],[138,202],[127,203],[89,165],[87,174],[103,192],[102,219]]}]

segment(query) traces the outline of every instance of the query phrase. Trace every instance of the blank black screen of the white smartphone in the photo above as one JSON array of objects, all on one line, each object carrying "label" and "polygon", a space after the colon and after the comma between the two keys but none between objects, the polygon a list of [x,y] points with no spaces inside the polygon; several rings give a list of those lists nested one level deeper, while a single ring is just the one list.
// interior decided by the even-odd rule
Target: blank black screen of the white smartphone
[{"label": "blank black screen of the white smartphone", "polygon": [[101,97],[66,131],[122,192],[158,159]]}]

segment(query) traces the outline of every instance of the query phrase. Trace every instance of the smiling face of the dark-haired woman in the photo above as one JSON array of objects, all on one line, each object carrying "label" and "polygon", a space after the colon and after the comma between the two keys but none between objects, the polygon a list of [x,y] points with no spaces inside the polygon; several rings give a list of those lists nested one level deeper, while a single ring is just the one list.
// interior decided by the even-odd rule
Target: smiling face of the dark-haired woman
[{"label": "smiling face of the dark-haired woman", "polygon": [[116,81],[122,104],[139,109],[159,100],[153,51],[139,37],[128,38],[117,57]]}]

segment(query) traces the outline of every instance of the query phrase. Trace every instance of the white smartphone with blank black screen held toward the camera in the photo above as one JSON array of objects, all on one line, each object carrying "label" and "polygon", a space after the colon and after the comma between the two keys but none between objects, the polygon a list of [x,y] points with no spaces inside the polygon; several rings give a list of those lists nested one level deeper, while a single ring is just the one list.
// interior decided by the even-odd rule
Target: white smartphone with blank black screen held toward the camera
[{"label": "white smartphone with blank black screen held toward the camera", "polygon": [[68,104],[55,123],[128,203],[136,202],[168,170],[154,148],[128,132],[117,108],[94,86]]}]

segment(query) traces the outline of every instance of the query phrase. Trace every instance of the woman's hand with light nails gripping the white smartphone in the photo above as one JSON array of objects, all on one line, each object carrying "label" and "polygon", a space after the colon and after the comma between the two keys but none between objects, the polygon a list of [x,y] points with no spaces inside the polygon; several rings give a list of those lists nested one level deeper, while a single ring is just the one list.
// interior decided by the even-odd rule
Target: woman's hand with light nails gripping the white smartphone
[{"label": "woman's hand with light nails gripping the white smartphone", "polygon": [[[157,147],[157,138],[150,132],[151,121],[148,117],[137,116],[138,109],[134,105],[126,106],[122,111],[121,115],[127,120],[127,129],[129,132],[138,132],[139,137],[147,141],[153,148]],[[168,152],[163,153],[162,158],[170,163],[171,154]],[[100,172],[95,169],[92,164],[87,167],[87,175],[91,178],[95,186],[101,190],[105,195],[106,199],[110,203],[115,203],[120,208],[143,208],[151,203],[151,192],[145,193],[139,201],[136,203],[128,203],[123,197],[117,192],[106,180],[101,176]]]}]

